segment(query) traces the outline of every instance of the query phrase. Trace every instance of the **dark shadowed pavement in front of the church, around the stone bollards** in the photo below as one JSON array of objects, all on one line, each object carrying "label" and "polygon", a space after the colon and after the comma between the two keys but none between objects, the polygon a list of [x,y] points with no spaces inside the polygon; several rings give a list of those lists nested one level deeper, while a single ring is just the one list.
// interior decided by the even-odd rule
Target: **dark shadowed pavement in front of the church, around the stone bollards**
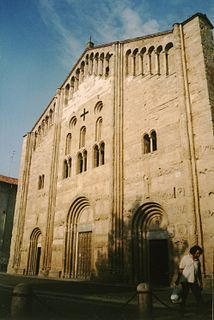
[{"label": "dark shadowed pavement in front of the church, around the stone bollards", "polygon": [[[19,283],[29,284],[32,288],[25,320],[213,320],[211,292],[208,291],[203,293],[206,303],[204,310],[199,312],[196,309],[190,295],[187,310],[181,315],[179,305],[173,305],[169,300],[171,289],[156,288],[153,291],[153,312],[145,317],[138,312],[136,288],[133,286],[59,281],[3,273],[0,274],[1,320],[12,319],[13,288]],[[17,319],[13,317],[13,320]]]}]

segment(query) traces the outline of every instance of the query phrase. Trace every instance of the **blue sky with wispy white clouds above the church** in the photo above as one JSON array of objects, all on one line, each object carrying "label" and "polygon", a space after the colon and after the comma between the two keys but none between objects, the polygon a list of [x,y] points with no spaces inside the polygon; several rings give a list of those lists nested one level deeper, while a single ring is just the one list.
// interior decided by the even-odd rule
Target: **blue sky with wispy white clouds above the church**
[{"label": "blue sky with wispy white clouds above the church", "polygon": [[22,137],[90,36],[95,45],[171,30],[213,0],[0,0],[0,175],[18,177]]}]

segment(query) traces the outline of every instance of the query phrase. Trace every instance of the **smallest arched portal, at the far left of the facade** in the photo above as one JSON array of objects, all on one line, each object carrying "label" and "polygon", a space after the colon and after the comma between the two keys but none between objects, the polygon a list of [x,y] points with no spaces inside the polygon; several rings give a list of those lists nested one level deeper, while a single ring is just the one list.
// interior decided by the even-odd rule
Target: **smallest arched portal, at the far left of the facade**
[{"label": "smallest arched portal, at the far left of the facade", "polygon": [[35,228],[30,236],[30,247],[28,253],[27,274],[38,275],[40,270],[40,258],[41,258],[41,230]]}]

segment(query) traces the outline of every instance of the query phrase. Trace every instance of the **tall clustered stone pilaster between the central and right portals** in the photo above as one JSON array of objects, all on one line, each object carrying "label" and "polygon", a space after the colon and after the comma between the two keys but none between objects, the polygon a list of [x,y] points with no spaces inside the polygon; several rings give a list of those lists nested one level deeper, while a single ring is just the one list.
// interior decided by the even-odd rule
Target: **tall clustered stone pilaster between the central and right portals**
[{"label": "tall clustered stone pilaster between the central and right portals", "polygon": [[123,269],[123,44],[115,44],[112,269]]}]

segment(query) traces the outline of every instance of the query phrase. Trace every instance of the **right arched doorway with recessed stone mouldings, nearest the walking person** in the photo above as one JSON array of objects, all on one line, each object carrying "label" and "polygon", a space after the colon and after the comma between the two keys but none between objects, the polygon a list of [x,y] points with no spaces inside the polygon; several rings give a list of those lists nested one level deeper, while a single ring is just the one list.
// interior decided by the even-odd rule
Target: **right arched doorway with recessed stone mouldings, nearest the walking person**
[{"label": "right arched doorway with recessed stone mouldings, nearest the walking person", "polygon": [[133,217],[132,253],[134,282],[169,285],[167,217],[156,202],[143,204]]}]

